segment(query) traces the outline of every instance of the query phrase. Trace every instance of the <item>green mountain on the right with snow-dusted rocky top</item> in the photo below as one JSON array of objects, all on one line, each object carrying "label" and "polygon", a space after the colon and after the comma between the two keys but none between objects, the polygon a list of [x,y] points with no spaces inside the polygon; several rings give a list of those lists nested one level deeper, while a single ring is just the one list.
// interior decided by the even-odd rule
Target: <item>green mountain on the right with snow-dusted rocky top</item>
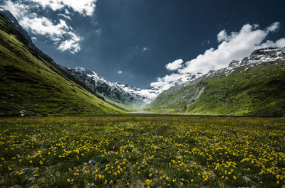
[{"label": "green mountain on the right with snow-dusted rocky top", "polygon": [[211,115],[285,115],[285,48],[255,50],[229,67],[162,92],[146,111]]}]

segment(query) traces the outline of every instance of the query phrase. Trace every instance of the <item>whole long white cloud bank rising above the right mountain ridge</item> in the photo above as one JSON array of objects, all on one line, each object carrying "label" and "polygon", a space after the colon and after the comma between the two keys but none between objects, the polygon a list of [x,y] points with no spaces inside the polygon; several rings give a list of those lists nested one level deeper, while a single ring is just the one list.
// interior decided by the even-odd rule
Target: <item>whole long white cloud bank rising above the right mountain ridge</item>
[{"label": "whole long white cloud bank rising above the right mountain ridge", "polygon": [[[252,51],[259,48],[283,48],[285,46],[285,38],[280,38],[275,42],[271,40],[264,42],[266,36],[271,32],[277,31],[279,26],[280,23],[275,22],[261,30],[257,29],[259,27],[257,24],[245,24],[239,32],[229,34],[222,30],[217,34],[217,41],[220,44],[216,49],[209,48],[203,54],[197,55],[195,59],[187,61],[184,67],[179,67],[177,74],[166,75],[162,78],[158,77],[157,82],[152,82],[150,85],[168,89],[177,79],[183,79],[187,75],[197,72],[207,73],[209,70],[227,67],[232,60],[242,60],[244,57],[249,56]],[[167,65],[171,65],[171,63]]]}]

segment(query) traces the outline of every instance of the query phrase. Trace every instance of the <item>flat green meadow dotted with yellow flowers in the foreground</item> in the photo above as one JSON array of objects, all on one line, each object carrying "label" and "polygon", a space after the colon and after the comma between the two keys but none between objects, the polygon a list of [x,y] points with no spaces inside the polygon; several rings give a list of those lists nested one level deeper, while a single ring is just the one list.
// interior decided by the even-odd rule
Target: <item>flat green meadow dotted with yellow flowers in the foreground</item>
[{"label": "flat green meadow dotted with yellow flowers in the foreground", "polygon": [[0,187],[285,187],[284,153],[284,118],[0,118]]}]

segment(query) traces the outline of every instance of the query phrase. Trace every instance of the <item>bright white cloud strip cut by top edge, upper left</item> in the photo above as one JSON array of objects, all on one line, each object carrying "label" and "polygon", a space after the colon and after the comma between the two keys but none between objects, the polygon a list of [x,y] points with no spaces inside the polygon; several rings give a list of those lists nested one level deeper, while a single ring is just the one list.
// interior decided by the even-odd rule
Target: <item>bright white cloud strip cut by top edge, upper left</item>
[{"label": "bright white cloud strip cut by top edge, upper left", "polygon": [[[83,16],[92,16],[97,0],[29,0],[40,4],[43,9],[51,8],[53,11],[73,9]],[[67,10],[67,9],[66,9]]]}]

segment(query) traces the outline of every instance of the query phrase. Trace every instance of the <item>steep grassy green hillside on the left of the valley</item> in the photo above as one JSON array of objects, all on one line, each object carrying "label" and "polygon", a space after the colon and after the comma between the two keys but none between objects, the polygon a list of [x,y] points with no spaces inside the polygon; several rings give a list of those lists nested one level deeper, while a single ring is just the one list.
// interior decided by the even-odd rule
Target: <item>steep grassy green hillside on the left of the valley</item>
[{"label": "steep grassy green hillside on the left of the valley", "polygon": [[0,116],[123,112],[91,94],[0,15]]}]

